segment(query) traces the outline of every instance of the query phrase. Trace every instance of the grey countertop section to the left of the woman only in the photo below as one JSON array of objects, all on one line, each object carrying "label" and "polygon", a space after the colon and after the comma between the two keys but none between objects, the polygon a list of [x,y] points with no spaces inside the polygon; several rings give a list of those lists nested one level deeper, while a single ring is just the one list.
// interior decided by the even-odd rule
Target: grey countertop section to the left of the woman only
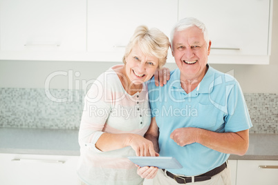
[{"label": "grey countertop section to the left of the woman only", "polygon": [[80,155],[78,130],[0,128],[0,153]]}]

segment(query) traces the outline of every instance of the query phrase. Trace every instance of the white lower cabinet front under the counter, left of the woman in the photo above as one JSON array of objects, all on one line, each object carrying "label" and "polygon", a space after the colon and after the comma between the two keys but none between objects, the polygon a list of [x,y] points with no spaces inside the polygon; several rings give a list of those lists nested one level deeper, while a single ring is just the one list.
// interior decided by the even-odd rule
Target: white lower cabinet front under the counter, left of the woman
[{"label": "white lower cabinet front under the counter, left of the woman", "polygon": [[77,156],[0,154],[0,184],[78,185]]}]

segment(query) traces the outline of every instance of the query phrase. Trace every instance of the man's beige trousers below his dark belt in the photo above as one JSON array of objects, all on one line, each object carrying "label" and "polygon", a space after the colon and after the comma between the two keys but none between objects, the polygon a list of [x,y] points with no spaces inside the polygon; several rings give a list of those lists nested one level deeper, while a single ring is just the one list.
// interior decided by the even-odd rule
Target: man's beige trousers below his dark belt
[{"label": "man's beige trousers below his dark belt", "polygon": [[[168,177],[161,169],[158,170],[156,177],[154,177],[154,185],[180,185],[171,177]],[[203,182],[191,182],[189,185],[231,185],[230,168],[227,166],[221,173],[214,175],[212,179]]]}]

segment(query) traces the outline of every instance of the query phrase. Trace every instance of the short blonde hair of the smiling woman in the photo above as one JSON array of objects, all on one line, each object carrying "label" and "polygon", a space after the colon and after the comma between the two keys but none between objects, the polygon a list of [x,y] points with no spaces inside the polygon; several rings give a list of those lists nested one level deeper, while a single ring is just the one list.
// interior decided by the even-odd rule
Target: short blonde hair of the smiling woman
[{"label": "short blonde hair of the smiling woman", "polygon": [[166,63],[167,52],[169,49],[168,37],[158,30],[157,28],[148,29],[147,26],[138,26],[131,37],[127,47],[125,48],[125,54],[122,58],[124,64],[127,63],[125,58],[130,54],[132,48],[138,44],[138,47],[144,55],[153,56],[158,58],[158,68]]}]

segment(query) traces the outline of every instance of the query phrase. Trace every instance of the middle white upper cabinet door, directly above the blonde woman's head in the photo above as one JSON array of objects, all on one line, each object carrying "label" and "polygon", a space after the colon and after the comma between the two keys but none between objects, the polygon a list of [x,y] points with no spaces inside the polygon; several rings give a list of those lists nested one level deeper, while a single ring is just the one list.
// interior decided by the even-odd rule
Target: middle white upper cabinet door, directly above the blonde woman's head
[{"label": "middle white upper cabinet door, directly above the blonde woman's head", "polygon": [[177,8],[178,0],[89,0],[88,50],[100,61],[122,61],[137,26],[158,28],[169,37]]}]

